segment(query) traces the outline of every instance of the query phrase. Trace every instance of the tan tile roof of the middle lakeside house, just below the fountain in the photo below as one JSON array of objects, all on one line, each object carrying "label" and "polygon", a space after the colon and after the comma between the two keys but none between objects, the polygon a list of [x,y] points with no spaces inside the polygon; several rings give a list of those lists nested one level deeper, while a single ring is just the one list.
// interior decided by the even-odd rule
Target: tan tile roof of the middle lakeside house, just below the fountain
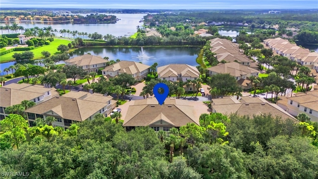
[{"label": "tan tile roof of the middle lakeside house, just below the fountain", "polygon": [[127,73],[127,74],[132,75],[132,74],[135,74],[137,72],[145,71],[149,68],[150,68],[150,66],[145,65],[145,64],[123,60],[123,61],[120,61],[118,63],[115,63],[113,65],[106,67],[102,71],[115,72],[115,71],[119,70],[120,73]]}]

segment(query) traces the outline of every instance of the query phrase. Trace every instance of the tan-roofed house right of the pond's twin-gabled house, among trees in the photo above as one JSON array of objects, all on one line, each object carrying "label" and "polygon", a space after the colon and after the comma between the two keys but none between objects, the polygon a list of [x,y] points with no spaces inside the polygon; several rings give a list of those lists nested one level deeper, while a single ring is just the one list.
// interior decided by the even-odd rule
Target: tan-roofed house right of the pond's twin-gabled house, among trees
[{"label": "tan-roofed house right of the pond's twin-gabled house, among trees", "polygon": [[230,74],[235,77],[242,89],[250,89],[251,82],[248,80],[250,76],[258,76],[259,71],[253,68],[241,65],[237,62],[218,64],[217,66],[207,69],[210,76],[216,74]]}]

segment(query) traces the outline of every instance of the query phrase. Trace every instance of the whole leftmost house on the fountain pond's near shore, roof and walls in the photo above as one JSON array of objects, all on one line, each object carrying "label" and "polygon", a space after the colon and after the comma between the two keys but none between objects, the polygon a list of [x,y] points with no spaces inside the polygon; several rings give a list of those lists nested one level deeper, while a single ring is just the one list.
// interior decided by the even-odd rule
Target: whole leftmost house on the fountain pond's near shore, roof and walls
[{"label": "whole leftmost house on the fountain pond's near shore, roof and walls", "polygon": [[79,57],[74,57],[65,61],[65,65],[76,65],[82,67],[87,72],[96,72],[98,69],[106,67],[108,60],[94,55],[85,54]]}]

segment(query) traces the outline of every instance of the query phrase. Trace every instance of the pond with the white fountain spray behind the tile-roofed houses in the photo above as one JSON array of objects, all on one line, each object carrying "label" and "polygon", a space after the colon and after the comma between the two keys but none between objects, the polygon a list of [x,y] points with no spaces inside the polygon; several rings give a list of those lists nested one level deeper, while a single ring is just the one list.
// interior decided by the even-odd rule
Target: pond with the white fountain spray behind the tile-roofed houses
[{"label": "pond with the white fountain spray behind the tile-roofed houses", "polygon": [[[200,52],[199,47],[149,47],[149,48],[124,48],[124,47],[89,47],[80,48],[70,54],[71,58],[81,56],[87,53],[100,57],[109,57],[109,60],[128,60],[142,62],[145,65],[153,65],[155,62],[158,66],[168,64],[188,64],[197,66],[196,58]],[[63,61],[57,64],[63,64]],[[1,75],[6,74],[3,69],[14,65],[15,62],[0,64]],[[10,74],[11,72],[9,72]]]}]

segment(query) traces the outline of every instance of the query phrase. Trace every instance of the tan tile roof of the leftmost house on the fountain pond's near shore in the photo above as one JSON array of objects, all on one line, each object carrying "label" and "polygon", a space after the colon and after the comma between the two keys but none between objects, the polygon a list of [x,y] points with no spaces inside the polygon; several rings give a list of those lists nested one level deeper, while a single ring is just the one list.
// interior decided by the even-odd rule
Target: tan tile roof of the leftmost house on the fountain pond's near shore
[{"label": "tan tile roof of the leftmost house on the fountain pond's near shore", "polygon": [[108,60],[105,60],[101,57],[97,57],[94,55],[85,54],[79,57],[74,57],[69,60],[66,60],[65,62],[71,63],[77,66],[84,66],[84,65],[96,65],[101,63],[106,63]]}]

